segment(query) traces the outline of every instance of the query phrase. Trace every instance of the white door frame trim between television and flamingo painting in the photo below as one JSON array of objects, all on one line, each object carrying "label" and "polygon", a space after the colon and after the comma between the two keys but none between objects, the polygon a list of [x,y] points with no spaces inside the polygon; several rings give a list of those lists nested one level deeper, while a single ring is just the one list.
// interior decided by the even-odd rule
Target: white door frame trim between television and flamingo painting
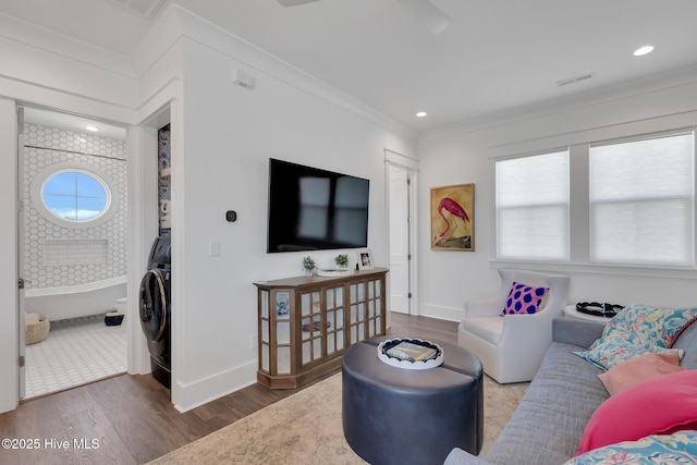
[{"label": "white door frame trim between television and flamingo painting", "polygon": [[[384,195],[386,195],[386,221],[387,230],[390,230],[390,170],[388,166],[394,166],[398,168],[402,168],[406,170],[406,176],[408,180],[407,187],[407,206],[408,206],[408,254],[411,255],[411,259],[407,259],[407,292],[411,297],[407,298],[407,315],[419,315],[418,309],[418,249],[416,245],[418,244],[417,240],[417,224],[418,224],[418,211],[416,205],[416,192],[418,187],[418,170],[419,170],[419,160],[409,157],[398,151],[391,150],[389,148],[383,149],[384,152]],[[390,237],[388,233],[388,244]]]}]

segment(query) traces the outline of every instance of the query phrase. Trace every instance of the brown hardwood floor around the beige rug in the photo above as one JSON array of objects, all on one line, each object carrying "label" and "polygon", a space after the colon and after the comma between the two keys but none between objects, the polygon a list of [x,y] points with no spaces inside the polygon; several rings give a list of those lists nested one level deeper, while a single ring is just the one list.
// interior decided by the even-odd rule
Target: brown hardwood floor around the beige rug
[{"label": "brown hardwood floor around the beige rug", "polygon": [[[389,333],[455,343],[456,328],[452,321],[393,313]],[[5,449],[3,442],[0,464],[142,464],[297,391],[254,384],[182,414],[151,376],[122,375],[0,415],[0,438],[22,446]]]}]

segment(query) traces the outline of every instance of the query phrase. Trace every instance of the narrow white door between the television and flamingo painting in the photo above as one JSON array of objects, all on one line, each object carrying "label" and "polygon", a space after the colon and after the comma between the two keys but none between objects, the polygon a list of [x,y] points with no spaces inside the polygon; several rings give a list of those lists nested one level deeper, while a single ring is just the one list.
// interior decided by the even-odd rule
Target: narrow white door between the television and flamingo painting
[{"label": "narrow white door between the television and flamingo painting", "polygon": [[390,180],[390,310],[409,313],[408,171],[388,163]]}]

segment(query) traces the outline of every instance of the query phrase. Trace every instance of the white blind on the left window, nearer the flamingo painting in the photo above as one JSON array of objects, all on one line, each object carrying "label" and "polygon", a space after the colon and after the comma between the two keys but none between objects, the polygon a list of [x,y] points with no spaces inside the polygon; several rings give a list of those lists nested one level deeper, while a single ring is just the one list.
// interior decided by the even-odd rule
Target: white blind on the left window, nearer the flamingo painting
[{"label": "white blind on the left window, nearer the flamingo painting", "polygon": [[497,257],[568,260],[568,150],[497,160]]}]

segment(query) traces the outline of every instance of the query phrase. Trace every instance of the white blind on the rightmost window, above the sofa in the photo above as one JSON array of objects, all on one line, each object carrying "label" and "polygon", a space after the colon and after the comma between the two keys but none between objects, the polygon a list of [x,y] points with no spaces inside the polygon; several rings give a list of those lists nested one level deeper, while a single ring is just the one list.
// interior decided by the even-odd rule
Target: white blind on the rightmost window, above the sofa
[{"label": "white blind on the rightmost window, above the sofa", "polygon": [[692,132],[590,146],[590,260],[694,265]]}]

